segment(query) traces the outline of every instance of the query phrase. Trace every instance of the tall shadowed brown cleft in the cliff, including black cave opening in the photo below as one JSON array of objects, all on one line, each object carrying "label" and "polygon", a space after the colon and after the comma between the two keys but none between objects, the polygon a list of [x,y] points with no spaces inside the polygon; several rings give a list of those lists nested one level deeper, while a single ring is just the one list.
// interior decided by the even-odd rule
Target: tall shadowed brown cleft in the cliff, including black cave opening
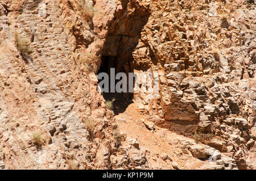
[{"label": "tall shadowed brown cleft in the cliff, including black cave opening", "polygon": [[[115,115],[125,112],[127,106],[133,103],[135,78],[129,80],[129,73],[133,73],[135,69],[133,51],[141,39],[143,27],[147,24],[151,14],[148,6],[131,4],[130,7],[128,6],[129,1],[121,1],[121,3],[122,10],[118,12],[119,15],[109,25],[108,36],[106,36],[105,45],[102,49],[101,66],[98,70],[98,85],[101,85],[102,81],[101,76],[99,76],[100,73],[108,74],[108,82],[111,83],[113,80],[110,78],[112,68],[115,69],[114,76],[118,73],[126,74],[127,92],[102,92],[106,102],[111,102],[114,99],[112,110]],[[133,12],[129,11],[130,8],[133,8]],[[119,81],[121,79],[114,79],[114,85],[118,85]],[[110,90],[111,87],[113,89],[113,86],[109,86],[108,89]]]}]

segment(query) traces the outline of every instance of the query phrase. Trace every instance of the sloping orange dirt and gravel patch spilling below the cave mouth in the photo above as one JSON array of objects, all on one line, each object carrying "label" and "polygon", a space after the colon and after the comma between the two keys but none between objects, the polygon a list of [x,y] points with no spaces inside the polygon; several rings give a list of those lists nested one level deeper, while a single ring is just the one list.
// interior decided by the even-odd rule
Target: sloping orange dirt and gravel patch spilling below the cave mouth
[{"label": "sloping orange dirt and gravel patch spilling below the cave mouth", "polygon": [[[125,112],[115,116],[119,131],[127,136],[122,145],[128,146],[130,139],[137,139],[140,149],[146,150],[150,169],[173,169],[174,162],[178,166],[182,165],[179,169],[196,169],[204,164],[200,159],[194,158],[189,150],[184,149],[183,145],[180,145],[180,141],[189,138],[168,129],[156,127],[156,125],[155,130],[151,131],[145,127],[142,119],[147,121],[148,116],[139,113],[135,103],[130,104]],[[164,155],[169,155],[170,158],[164,160]]]}]

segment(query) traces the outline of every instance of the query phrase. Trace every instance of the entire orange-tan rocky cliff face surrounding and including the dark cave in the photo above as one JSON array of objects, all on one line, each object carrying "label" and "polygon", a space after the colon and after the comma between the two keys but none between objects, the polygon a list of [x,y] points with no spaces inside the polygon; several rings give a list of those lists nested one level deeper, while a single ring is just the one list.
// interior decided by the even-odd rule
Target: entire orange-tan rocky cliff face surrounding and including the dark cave
[{"label": "entire orange-tan rocky cliff face surrounding and including the dark cave", "polygon": [[[1,1],[0,167],[255,169],[255,8]],[[97,92],[111,67],[157,72],[159,98]]]}]

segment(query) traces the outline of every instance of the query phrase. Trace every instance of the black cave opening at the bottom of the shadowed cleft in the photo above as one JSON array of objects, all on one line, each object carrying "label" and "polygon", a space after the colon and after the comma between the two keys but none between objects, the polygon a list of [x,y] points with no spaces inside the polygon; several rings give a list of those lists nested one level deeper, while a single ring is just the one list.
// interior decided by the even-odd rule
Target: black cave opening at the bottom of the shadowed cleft
[{"label": "black cave opening at the bottom of the shadowed cleft", "polygon": [[[111,68],[114,68],[114,70],[115,70],[114,76],[117,75],[118,73],[126,74],[126,76],[127,76],[127,92],[117,92],[116,90],[114,92],[110,92],[110,81],[113,81],[113,79],[111,79],[111,76],[110,76]],[[129,71],[133,72],[133,70],[129,70]],[[107,102],[112,103],[112,106],[113,106],[112,110],[114,111],[115,115],[117,115],[118,113],[125,112],[126,108],[129,106],[129,104],[133,103],[133,92],[128,92],[128,90],[129,90],[128,73],[129,72],[127,72],[127,69],[125,70],[125,68],[123,68],[121,61],[118,61],[118,57],[102,56],[101,66],[100,66],[100,69],[98,70],[98,75],[100,73],[108,74],[109,89],[108,89],[108,92],[102,92],[102,95],[104,96],[104,99],[106,100],[106,103]],[[112,73],[113,73],[113,71],[112,71]],[[99,79],[98,81],[101,82],[102,80],[103,79]],[[121,79],[114,79],[114,85],[116,85],[116,83],[119,81],[121,81]],[[102,86],[102,88],[105,88],[104,86]]]}]

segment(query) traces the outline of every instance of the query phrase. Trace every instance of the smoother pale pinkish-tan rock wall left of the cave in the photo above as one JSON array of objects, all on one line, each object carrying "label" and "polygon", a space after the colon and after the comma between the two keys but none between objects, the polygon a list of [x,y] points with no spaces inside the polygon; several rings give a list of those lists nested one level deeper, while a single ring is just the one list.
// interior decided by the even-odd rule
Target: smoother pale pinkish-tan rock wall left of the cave
[{"label": "smoother pale pinkish-tan rock wall left of the cave", "polygon": [[[5,168],[110,168],[110,153],[117,145],[110,131],[113,113],[96,91],[96,75],[80,61],[91,47],[100,51],[104,30],[96,36],[99,30],[93,30],[92,19],[82,17],[77,1],[1,1],[0,7]],[[95,29],[100,23],[108,20],[95,23]],[[16,46],[15,33],[30,40],[31,52]],[[86,128],[91,117],[92,133]],[[40,148],[34,133],[42,138]]]}]

